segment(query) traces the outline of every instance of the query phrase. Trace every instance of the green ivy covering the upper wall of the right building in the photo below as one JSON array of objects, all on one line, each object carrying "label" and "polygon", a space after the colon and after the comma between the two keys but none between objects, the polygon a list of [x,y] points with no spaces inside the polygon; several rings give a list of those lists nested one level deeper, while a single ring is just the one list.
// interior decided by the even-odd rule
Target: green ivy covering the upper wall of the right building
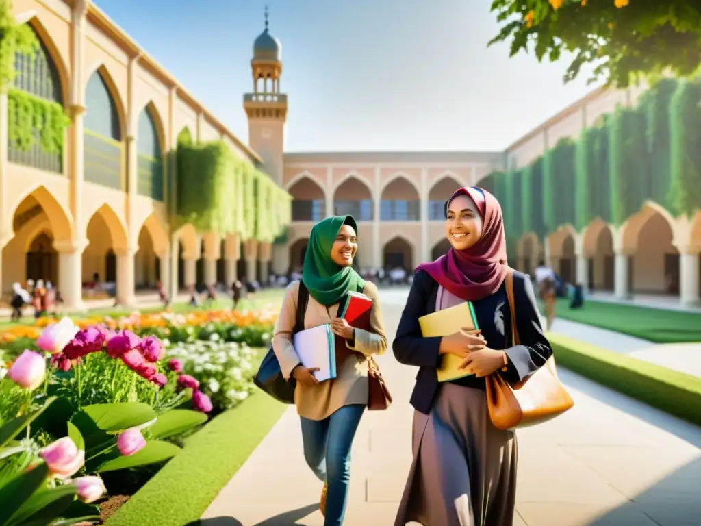
[{"label": "green ivy covering the upper wall of the right building", "polygon": [[563,224],[622,224],[648,200],[693,215],[701,208],[701,79],[663,79],[636,106],[479,184],[502,204],[510,250],[529,231],[543,238]]}]

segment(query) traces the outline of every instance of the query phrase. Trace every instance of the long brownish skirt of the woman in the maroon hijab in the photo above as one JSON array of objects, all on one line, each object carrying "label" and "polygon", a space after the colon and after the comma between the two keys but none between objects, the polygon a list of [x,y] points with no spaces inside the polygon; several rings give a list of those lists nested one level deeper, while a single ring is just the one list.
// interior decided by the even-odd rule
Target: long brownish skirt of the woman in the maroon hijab
[{"label": "long brownish skirt of the woman in the maroon hijab", "polygon": [[395,526],[511,526],[513,431],[489,419],[484,391],[444,384],[430,414],[414,412],[414,461]]}]

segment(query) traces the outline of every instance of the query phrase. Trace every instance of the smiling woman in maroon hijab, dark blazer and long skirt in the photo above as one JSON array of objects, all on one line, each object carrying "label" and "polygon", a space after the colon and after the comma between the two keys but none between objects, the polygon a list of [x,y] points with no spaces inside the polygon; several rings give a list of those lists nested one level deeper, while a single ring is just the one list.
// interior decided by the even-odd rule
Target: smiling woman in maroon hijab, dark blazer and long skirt
[{"label": "smiling woman in maroon hijab, dark blazer and long skirt", "polygon": [[[419,367],[411,464],[395,526],[506,526],[514,516],[517,444],[492,424],[485,377],[510,384],[552,354],[540,328],[531,282],[506,265],[501,206],[488,191],[458,189],[445,206],[447,255],[418,266],[393,342],[397,360]],[[510,342],[505,280],[513,272],[517,329]],[[418,318],[472,302],[479,330],[422,337]],[[467,323],[466,323],[467,325]],[[463,358],[468,376],[439,383],[444,354]]]}]

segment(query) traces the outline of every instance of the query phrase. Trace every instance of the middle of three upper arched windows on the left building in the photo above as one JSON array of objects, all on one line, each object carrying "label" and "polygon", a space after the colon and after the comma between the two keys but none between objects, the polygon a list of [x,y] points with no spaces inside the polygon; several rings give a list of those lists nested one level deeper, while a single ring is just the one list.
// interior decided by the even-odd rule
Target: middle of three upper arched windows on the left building
[{"label": "middle of three upper arched windows on the left building", "polygon": [[85,180],[105,187],[124,190],[122,175],[123,146],[117,107],[98,69],[86,86],[84,126]]}]

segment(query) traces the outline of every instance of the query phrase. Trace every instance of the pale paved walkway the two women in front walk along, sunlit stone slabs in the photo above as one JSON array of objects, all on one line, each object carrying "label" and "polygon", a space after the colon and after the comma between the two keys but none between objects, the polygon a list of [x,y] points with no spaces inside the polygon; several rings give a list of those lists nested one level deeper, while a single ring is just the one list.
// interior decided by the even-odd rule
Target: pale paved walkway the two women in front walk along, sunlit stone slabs
[{"label": "pale paved walkway the two women in front walk along, sunlit stone slabs", "polygon": [[[381,295],[392,334],[404,299],[395,291]],[[407,400],[416,372],[399,365],[391,351],[379,363],[395,403],[386,412],[368,412],[358,430],[346,526],[392,526],[411,461]],[[576,406],[519,431],[514,525],[697,525],[701,429],[569,371],[560,375]],[[201,522],[322,526],[320,490],[304,464],[299,419],[290,407]]]}]

